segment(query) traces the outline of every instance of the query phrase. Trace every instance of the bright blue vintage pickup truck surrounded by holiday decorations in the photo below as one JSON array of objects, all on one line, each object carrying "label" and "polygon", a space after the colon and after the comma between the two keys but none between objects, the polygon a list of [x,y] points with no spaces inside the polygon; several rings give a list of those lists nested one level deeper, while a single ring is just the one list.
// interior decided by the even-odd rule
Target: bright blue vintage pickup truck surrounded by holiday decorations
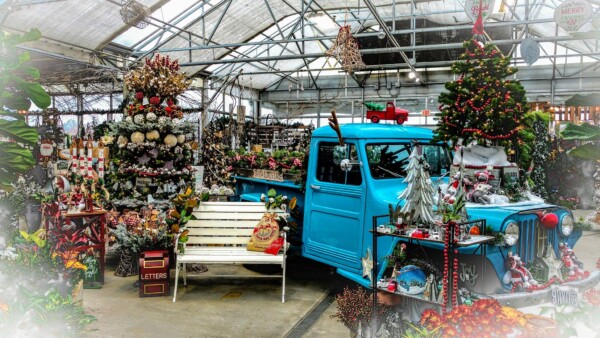
[{"label": "bright blue vintage pickup truck surrounded by holiday decorations", "polygon": [[[290,181],[235,176],[239,199],[259,201],[260,195],[271,188],[290,198],[296,196],[303,215],[301,254],[336,268],[342,276],[365,287],[373,287],[373,282],[365,277],[363,259],[373,252],[375,244],[375,280],[383,276],[386,257],[399,242],[418,247],[416,253],[440,267],[443,242],[379,234],[374,239],[373,230],[386,222],[389,204],[403,203],[398,196],[407,188],[403,169],[412,151],[412,141],[418,140],[423,145],[434,185],[447,183],[446,174],[452,164],[447,147],[431,143],[431,130],[414,126],[346,124],[341,126],[341,134],[344,149],[340,152],[338,135],[332,128],[321,127],[313,132],[304,193]],[[460,288],[515,307],[531,305],[534,300],[549,301],[549,289],[512,292],[505,280],[509,252],[519,255],[526,265],[538,261],[546,266],[549,276],[553,272],[559,274],[559,245],[566,243],[573,248],[581,236],[581,231],[573,228],[572,213],[540,202],[468,203],[467,210],[469,220],[483,219],[488,229],[506,233],[511,240],[500,245],[459,246]],[[540,213],[554,213],[558,224],[546,229],[540,224]],[[596,271],[585,279],[566,284],[588,288],[599,280]]]}]

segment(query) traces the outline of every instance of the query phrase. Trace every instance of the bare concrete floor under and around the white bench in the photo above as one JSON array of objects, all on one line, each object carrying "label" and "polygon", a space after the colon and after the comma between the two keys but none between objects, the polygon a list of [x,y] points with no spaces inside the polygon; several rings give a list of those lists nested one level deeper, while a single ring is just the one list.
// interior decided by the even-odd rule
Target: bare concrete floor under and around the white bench
[{"label": "bare concrete floor under and around the white bench", "polygon": [[[575,216],[589,211],[576,211]],[[600,231],[586,231],[575,246],[585,269],[596,269]],[[286,303],[280,279],[210,278],[212,274],[252,273],[243,267],[210,266],[202,277],[188,277],[177,302],[170,297],[139,298],[137,276],[116,277],[116,257],[107,260],[101,289],[85,289],[83,305],[97,321],[86,337],[347,337],[330,316],[334,296],[353,282],[303,258],[288,260]],[[174,271],[171,272],[173,280]],[[173,283],[171,283],[171,290]],[[536,309],[528,309],[536,313]],[[539,313],[539,312],[537,312]]]}]

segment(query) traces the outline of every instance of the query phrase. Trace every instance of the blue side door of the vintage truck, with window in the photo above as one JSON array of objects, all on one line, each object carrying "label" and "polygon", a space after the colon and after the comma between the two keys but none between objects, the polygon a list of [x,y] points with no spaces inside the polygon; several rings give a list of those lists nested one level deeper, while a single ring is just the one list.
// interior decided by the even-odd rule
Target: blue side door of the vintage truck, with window
[{"label": "blue side door of the vintage truck, with window", "polygon": [[[346,144],[349,171],[340,167],[334,154],[337,143],[318,142],[311,149],[304,212],[305,257],[358,272],[361,269],[366,183],[355,160],[356,144]],[[314,154],[314,155],[313,155]]]}]

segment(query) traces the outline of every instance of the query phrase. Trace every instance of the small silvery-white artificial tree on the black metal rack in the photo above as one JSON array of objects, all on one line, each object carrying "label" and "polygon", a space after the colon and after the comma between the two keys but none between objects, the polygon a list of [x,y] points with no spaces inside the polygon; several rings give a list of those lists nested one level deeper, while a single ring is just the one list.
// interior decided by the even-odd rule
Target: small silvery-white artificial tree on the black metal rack
[{"label": "small silvery-white artificial tree on the black metal rack", "polygon": [[408,183],[408,187],[398,198],[406,200],[402,212],[415,211],[412,217],[414,223],[420,220],[425,224],[433,224],[435,223],[433,219],[435,189],[429,177],[429,164],[421,152],[421,147],[416,145],[406,167],[408,175],[404,182]]}]

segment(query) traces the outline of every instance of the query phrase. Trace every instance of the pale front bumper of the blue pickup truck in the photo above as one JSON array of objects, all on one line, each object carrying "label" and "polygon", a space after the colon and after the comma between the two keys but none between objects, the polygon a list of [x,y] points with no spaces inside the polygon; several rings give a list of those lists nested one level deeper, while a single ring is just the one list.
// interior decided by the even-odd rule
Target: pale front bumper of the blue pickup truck
[{"label": "pale front bumper of the blue pickup truck", "polygon": [[[595,287],[600,282],[600,271],[596,270],[590,274],[590,276],[583,280],[567,282],[560,284],[560,286],[566,286],[575,289],[579,292],[583,292],[587,289]],[[544,290],[532,291],[532,292],[513,292],[506,294],[494,294],[490,297],[495,298],[502,305],[510,306],[513,308],[527,307],[531,305],[537,305],[552,301],[552,286]]]}]

